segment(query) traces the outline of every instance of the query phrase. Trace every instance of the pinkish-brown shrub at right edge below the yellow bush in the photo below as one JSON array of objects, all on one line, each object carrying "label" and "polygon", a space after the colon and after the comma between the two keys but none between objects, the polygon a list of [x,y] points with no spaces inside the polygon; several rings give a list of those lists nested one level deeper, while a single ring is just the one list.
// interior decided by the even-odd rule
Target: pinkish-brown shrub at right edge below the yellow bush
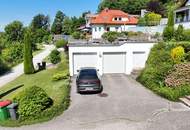
[{"label": "pinkish-brown shrub at right edge below the yellow bush", "polygon": [[190,85],[190,63],[175,65],[166,77],[165,84],[169,87]]}]

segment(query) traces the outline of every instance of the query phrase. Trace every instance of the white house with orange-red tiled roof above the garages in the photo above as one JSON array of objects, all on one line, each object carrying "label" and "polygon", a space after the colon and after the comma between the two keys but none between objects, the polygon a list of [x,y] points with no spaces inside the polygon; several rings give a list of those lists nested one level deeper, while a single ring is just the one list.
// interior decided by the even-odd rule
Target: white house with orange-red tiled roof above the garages
[{"label": "white house with orange-red tiled roof above the garages", "polygon": [[100,39],[108,31],[123,32],[129,27],[136,27],[138,18],[121,10],[104,9],[90,19],[92,38]]}]

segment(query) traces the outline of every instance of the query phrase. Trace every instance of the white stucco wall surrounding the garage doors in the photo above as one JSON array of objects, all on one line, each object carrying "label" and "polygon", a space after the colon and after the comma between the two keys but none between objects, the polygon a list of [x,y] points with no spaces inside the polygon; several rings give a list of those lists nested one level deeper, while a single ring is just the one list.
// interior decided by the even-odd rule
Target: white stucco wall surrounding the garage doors
[{"label": "white stucco wall surrounding the garage doors", "polygon": [[[69,47],[69,71],[70,75],[74,75],[74,53],[97,53],[97,69],[99,69],[99,73],[103,74],[103,53],[105,52],[126,52],[126,69],[125,74],[129,75],[135,69],[137,65],[134,64],[133,53],[134,52],[145,52],[143,57],[141,57],[141,61],[145,62],[148,58],[150,49],[155,43],[126,43],[121,46],[70,46]],[[114,59],[113,59],[114,60]],[[138,60],[138,59],[135,59]],[[140,65],[142,67],[142,64]]]}]

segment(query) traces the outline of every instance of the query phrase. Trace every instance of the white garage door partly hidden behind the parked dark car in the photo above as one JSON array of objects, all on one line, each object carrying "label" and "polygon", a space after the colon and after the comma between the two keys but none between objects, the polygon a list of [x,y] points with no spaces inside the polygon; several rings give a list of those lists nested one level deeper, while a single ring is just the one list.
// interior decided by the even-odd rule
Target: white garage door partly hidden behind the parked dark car
[{"label": "white garage door partly hidden behind the parked dark car", "polygon": [[97,53],[74,53],[73,54],[73,70],[77,74],[77,70],[81,67],[96,67]]}]

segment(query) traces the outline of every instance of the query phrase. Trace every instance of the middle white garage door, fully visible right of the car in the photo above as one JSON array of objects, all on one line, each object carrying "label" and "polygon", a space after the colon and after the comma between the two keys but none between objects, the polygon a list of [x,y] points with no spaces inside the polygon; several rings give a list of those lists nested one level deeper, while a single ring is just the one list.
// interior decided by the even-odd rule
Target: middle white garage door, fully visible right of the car
[{"label": "middle white garage door, fully visible right of the car", "polygon": [[126,53],[104,53],[103,73],[125,73]]}]

